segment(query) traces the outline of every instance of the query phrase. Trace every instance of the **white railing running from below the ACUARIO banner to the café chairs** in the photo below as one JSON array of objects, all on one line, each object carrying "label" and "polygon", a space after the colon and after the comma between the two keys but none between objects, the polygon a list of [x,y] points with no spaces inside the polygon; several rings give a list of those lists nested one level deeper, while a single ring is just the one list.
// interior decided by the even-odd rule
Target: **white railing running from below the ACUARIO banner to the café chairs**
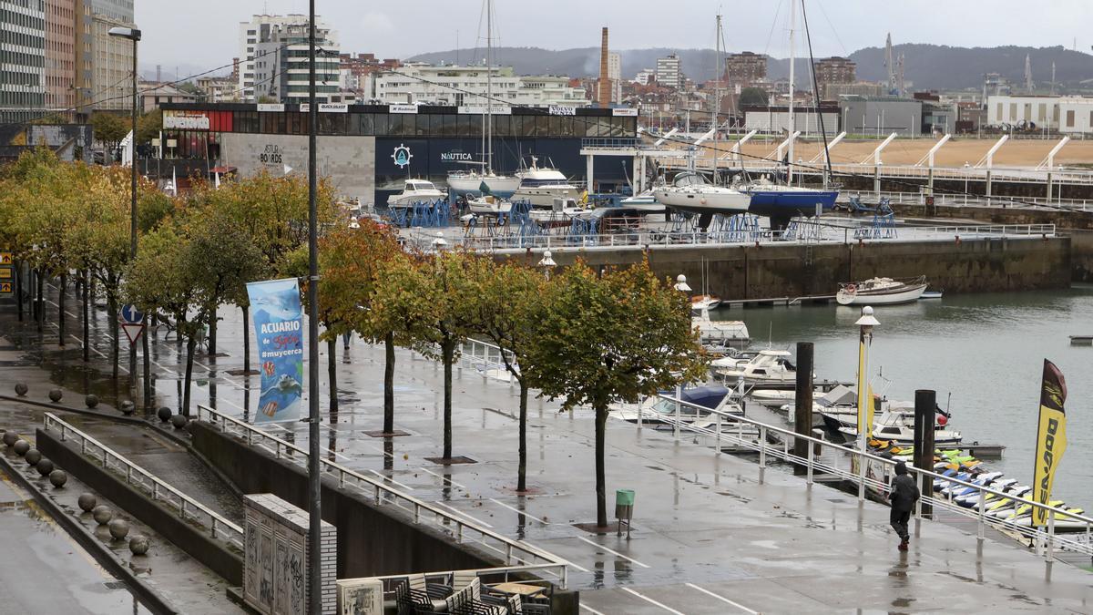
[{"label": "white railing running from below the ACUARIO banner to the caf\u00e9 chairs", "polygon": [[[198,405],[197,420],[205,420],[219,427],[225,434],[235,434],[250,446],[258,446],[272,453],[279,460],[299,463],[307,467],[308,453],[291,442],[277,438],[254,426],[234,417],[221,414],[208,406]],[[339,488],[355,488],[371,496],[376,506],[393,506],[409,513],[415,524],[433,522],[434,527],[447,533],[459,544],[471,534],[473,544],[503,557],[506,566],[520,568],[529,572],[542,573],[556,580],[561,588],[566,587],[569,562],[554,554],[522,541],[514,541],[472,521],[466,521],[458,513],[440,509],[424,500],[407,495],[380,480],[365,476],[338,463],[319,460],[324,469],[338,479]]]}]

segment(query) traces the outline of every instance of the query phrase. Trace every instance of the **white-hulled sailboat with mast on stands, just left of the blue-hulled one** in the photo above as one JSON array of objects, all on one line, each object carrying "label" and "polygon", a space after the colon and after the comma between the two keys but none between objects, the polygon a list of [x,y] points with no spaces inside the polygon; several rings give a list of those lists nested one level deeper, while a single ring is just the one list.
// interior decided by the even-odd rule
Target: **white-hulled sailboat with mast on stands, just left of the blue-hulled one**
[{"label": "white-hulled sailboat with mast on stands, just left of the blue-hulled one", "polygon": [[[721,74],[721,15],[717,15],[717,74],[720,83]],[[685,171],[675,175],[672,184],[654,188],[653,196],[667,207],[680,211],[702,214],[700,225],[705,228],[708,218],[714,213],[743,213],[751,206],[752,197],[728,186],[717,185],[717,134],[720,127],[721,90],[714,89],[714,113],[712,116],[714,139],[714,183],[694,171]]]}]

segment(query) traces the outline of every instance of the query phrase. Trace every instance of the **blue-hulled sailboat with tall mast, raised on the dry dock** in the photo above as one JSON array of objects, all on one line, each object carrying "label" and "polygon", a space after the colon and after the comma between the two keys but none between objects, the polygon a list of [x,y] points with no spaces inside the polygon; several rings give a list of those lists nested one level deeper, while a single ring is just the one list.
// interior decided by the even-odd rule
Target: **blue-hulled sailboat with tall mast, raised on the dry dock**
[{"label": "blue-hulled sailboat with tall mast, raised on the dry dock", "polygon": [[[803,9],[804,0],[800,0]],[[806,188],[794,185],[794,144],[797,140],[797,119],[794,114],[794,93],[797,80],[795,76],[795,63],[797,61],[796,48],[794,46],[794,34],[797,27],[797,2],[789,3],[789,164],[786,165],[786,184],[775,184],[766,177],[745,184],[741,189],[751,195],[751,207],[749,211],[759,216],[766,216],[771,219],[772,228],[784,229],[789,224],[790,218],[795,216],[814,214],[820,211],[830,210],[835,206],[838,198],[838,190]],[[813,93],[816,102],[816,114],[819,116],[820,92]],[[824,143],[826,148],[826,142]]]}]

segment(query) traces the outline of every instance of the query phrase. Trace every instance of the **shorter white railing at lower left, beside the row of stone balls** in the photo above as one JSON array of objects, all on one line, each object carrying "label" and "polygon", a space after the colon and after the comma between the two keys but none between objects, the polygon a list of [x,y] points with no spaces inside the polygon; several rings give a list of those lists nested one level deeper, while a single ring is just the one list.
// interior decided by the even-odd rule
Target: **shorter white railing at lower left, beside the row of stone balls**
[{"label": "shorter white railing at lower left, beside the row of stone balls", "polygon": [[139,486],[151,495],[153,500],[174,508],[181,519],[197,521],[205,525],[213,538],[222,538],[240,549],[243,548],[243,527],[224,519],[209,507],[172,487],[52,413],[46,413],[44,427],[46,431],[59,430],[62,442],[67,440],[79,441],[81,454],[99,461],[104,469],[124,475],[126,484]]}]

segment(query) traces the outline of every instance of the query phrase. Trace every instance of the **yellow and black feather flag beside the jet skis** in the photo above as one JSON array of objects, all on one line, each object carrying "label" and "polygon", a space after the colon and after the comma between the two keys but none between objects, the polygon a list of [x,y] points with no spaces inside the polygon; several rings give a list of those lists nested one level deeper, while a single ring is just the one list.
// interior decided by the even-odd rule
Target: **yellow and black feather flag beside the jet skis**
[{"label": "yellow and black feather flag beside the jet skis", "polygon": [[[1055,363],[1044,359],[1044,382],[1039,394],[1039,426],[1036,432],[1036,467],[1033,474],[1032,499],[1046,504],[1051,501],[1055,471],[1067,450],[1067,383]],[[1034,508],[1032,525],[1047,525],[1047,509]]]}]

